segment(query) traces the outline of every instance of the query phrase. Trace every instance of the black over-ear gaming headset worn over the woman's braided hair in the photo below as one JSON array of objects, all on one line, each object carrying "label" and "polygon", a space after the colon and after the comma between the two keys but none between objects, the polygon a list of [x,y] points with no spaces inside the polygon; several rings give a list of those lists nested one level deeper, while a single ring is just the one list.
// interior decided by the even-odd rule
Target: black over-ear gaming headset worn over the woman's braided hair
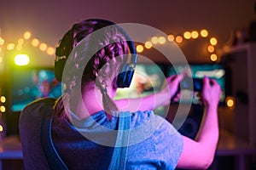
[{"label": "black over-ear gaming headset worn over the woman's braided hair", "polygon": [[[103,23],[105,26],[115,25],[113,22],[108,20],[100,20],[100,19],[90,19],[95,20],[99,23]],[[103,27],[105,27],[103,26]],[[137,51],[136,48],[131,41],[131,38],[128,34],[118,25],[119,31],[124,34],[126,42],[128,43],[128,47],[131,53],[131,60],[129,63],[124,63],[121,67],[119,75],[117,77],[117,87],[118,88],[129,88],[131,84],[131,80],[134,74],[135,66],[137,64]],[[62,73],[68,58],[68,55],[73,50],[73,37],[72,30],[67,31],[65,36],[61,39],[59,46],[56,48],[55,55],[55,77],[58,81],[61,82]]]}]

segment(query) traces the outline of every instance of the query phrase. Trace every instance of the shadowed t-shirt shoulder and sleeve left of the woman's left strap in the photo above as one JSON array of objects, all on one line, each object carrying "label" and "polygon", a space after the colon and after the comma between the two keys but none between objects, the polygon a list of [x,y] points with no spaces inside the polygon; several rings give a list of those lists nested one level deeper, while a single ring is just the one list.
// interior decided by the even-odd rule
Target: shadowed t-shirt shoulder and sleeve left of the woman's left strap
[{"label": "shadowed t-shirt shoulder and sleeve left of the woman's left strap", "polygon": [[51,112],[55,99],[37,99],[20,113],[19,131],[24,156],[24,165],[28,169],[49,169],[42,150],[40,134],[42,117]]}]

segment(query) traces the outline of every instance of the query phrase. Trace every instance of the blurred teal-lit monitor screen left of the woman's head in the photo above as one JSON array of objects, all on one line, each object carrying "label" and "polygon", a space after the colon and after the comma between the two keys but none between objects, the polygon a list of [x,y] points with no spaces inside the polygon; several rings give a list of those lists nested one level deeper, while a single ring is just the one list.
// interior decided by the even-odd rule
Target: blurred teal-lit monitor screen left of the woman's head
[{"label": "blurred teal-lit monitor screen left of the woman's head", "polygon": [[61,82],[50,68],[15,68],[12,71],[11,110],[21,111],[35,99],[61,96]]}]

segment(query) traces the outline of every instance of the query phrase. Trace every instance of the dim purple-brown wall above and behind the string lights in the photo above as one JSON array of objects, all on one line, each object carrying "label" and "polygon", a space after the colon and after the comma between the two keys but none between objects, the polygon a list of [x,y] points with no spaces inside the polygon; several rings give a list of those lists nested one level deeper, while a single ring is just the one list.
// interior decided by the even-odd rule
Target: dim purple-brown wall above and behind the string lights
[{"label": "dim purple-brown wall above and behind the string lights", "polygon": [[[25,31],[32,37],[55,47],[62,35],[74,22],[89,18],[103,18],[116,23],[139,23],[152,26],[164,33],[183,35],[184,31],[207,29],[207,38],[186,40],[179,44],[189,62],[209,62],[207,45],[216,37],[216,52],[230,38],[235,28],[248,28],[255,20],[254,0],[1,0],[0,36],[5,44],[17,42]],[[142,32],[143,33],[143,32]],[[38,48],[26,46],[34,58],[33,65],[52,65],[54,56]],[[29,51],[29,52],[28,52]],[[9,57],[10,53],[5,56]],[[149,59],[162,61],[163,56],[154,50],[143,53]]]}]

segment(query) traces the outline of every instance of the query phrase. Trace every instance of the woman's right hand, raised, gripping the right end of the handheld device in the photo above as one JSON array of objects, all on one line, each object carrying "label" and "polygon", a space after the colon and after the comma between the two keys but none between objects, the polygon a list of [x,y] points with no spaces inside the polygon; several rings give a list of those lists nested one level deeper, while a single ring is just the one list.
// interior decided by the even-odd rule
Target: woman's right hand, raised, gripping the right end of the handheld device
[{"label": "woman's right hand, raised, gripping the right end of the handheld device", "polygon": [[218,106],[220,99],[221,89],[215,79],[204,77],[202,88],[202,100],[206,106]]}]

